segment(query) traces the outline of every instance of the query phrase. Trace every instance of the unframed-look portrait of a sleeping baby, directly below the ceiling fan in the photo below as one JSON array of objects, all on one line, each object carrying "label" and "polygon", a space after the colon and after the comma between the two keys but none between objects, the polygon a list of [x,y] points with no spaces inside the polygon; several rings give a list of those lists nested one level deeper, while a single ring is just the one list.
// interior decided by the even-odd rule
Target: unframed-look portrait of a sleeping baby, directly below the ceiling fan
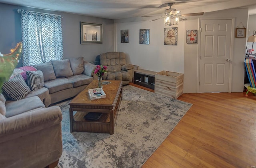
[{"label": "unframed-look portrait of a sleeping baby, directly below the ceiling fan", "polygon": [[178,27],[164,28],[164,45],[178,44]]}]

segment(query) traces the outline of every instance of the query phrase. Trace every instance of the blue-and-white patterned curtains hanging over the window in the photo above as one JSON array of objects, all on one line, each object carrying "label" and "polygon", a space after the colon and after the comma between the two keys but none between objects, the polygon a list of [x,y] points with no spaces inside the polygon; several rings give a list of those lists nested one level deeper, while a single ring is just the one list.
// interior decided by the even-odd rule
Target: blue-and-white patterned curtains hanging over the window
[{"label": "blue-and-white patterned curtains hanging over the window", "polygon": [[21,10],[23,66],[63,59],[61,16]]}]

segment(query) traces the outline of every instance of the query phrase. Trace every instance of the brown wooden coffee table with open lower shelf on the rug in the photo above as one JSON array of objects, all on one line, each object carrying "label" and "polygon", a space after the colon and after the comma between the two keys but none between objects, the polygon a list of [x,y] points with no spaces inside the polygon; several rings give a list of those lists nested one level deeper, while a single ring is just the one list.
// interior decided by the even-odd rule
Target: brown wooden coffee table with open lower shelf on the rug
[{"label": "brown wooden coffee table with open lower shelf on the rug", "polygon": [[[122,81],[107,80],[110,84],[103,85],[106,98],[90,100],[88,89],[98,88],[98,80],[90,83],[70,103],[70,132],[99,132],[114,134],[114,126],[118,109],[122,100]],[[74,115],[74,112],[76,114]],[[86,120],[88,112],[101,112],[98,120]]]}]

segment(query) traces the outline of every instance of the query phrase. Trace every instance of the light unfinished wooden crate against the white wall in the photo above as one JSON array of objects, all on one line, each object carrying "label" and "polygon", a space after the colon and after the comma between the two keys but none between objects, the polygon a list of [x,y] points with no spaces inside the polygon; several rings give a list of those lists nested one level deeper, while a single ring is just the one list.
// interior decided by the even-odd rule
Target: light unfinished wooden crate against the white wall
[{"label": "light unfinished wooden crate against the white wall", "polygon": [[155,93],[170,98],[183,94],[183,74],[161,71],[155,74]]}]

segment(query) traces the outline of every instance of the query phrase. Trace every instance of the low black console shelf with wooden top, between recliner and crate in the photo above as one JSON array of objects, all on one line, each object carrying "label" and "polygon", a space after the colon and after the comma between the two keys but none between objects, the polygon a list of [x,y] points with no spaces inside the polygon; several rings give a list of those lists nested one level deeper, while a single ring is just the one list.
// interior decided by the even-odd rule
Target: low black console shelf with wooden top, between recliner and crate
[{"label": "low black console shelf with wooden top, between recliner and crate", "polygon": [[134,71],[134,84],[144,86],[146,88],[155,88],[155,74],[157,72],[138,69]]}]

